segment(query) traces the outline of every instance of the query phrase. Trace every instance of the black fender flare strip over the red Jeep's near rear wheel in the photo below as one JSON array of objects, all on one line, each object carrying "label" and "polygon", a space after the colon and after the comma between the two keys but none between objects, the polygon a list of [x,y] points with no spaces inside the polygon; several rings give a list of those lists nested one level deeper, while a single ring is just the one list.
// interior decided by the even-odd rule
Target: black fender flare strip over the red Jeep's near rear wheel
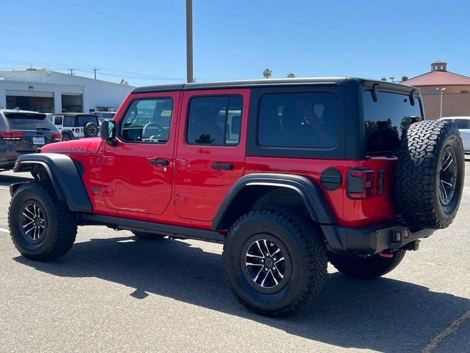
[{"label": "black fender flare strip over the red Jeep's near rear wheel", "polygon": [[212,221],[212,230],[220,229],[224,215],[236,196],[246,187],[275,186],[299,193],[312,220],[319,224],[336,224],[336,217],[320,187],[310,179],[296,174],[253,173],[241,177],[225,196]]}]

